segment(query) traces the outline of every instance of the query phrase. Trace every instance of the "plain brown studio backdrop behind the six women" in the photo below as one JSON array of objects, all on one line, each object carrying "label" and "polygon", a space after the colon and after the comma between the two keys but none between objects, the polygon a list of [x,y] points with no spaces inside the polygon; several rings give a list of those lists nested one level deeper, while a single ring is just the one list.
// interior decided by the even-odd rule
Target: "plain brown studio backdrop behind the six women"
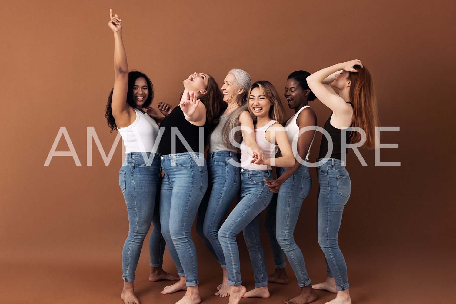
[{"label": "plain brown studio backdrop behind the six women", "polygon": [[[455,34],[449,26],[455,6],[450,1],[432,5],[413,1],[145,1],[128,5],[122,1],[15,1],[2,14],[0,46],[6,128],[1,135],[6,157],[0,193],[0,257],[4,275],[10,278],[3,288],[13,291],[4,293],[6,299],[46,303],[44,294],[49,289],[50,299],[63,303],[93,297],[104,303],[117,300],[121,248],[128,231],[117,179],[120,144],[109,166],[104,165],[94,142],[92,166],[87,166],[86,156],[87,127],[95,128],[105,153],[116,136],[116,132],[109,133],[104,119],[114,80],[113,35],[106,25],[109,8],[123,20],[129,68],[145,72],[154,84],[152,105],[159,101],[176,105],[182,80],[195,71],[211,74],[220,85],[226,73],[238,67],[249,72],[252,80],[269,80],[282,92],[290,72],[315,72],[361,59],[374,77],[381,125],[400,127],[399,132],[383,132],[381,142],[399,143],[399,149],[382,149],[381,160],[401,161],[401,166],[375,167],[373,151],[361,150],[368,163],[363,167],[353,151],[348,154],[352,194],[339,243],[351,284],[360,290],[370,287],[372,293],[358,294],[358,299],[369,301],[383,296],[374,292],[378,291],[375,280],[393,284],[391,276],[404,280],[420,276],[423,283],[433,284],[440,275],[455,270],[454,263],[444,263],[442,258],[456,247],[451,193],[455,165],[446,161],[455,148],[447,131],[453,120],[449,114],[455,110],[449,91],[455,68],[451,59],[455,42],[449,38]],[[319,101],[310,105],[318,125],[323,126],[330,110]],[[290,116],[292,111],[285,108]],[[70,135],[80,167],[71,157],[62,156],[44,166],[61,126]],[[317,134],[312,159],[318,155],[320,140]],[[57,151],[65,150],[62,137]],[[303,203],[295,238],[316,283],[324,279],[325,265],[316,241],[315,169],[311,173],[313,186]],[[193,240],[201,288],[210,295],[221,271],[196,233]],[[243,278],[252,286],[244,241],[238,240]],[[265,233],[263,245],[271,273]],[[145,242],[137,280],[144,281],[147,267]],[[165,268],[174,269],[167,252]],[[372,268],[383,274],[366,271]],[[63,283],[68,280],[71,283]],[[151,297],[150,285],[141,282],[135,284],[145,284],[139,287],[143,297]],[[445,282],[456,283],[454,278]],[[295,283],[287,286],[290,295],[296,291]],[[27,292],[21,292],[25,286]],[[435,288],[444,290],[441,285]],[[87,294],[81,294],[81,289]],[[270,289],[281,290],[273,285]],[[412,291],[418,294],[415,303],[430,303],[426,302],[430,294],[421,289],[416,293],[411,283],[398,293]],[[456,299],[453,296],[443,292],[438,301],[453,303],[446,300]],[[160,301],[174,303],[179,297]]]}]

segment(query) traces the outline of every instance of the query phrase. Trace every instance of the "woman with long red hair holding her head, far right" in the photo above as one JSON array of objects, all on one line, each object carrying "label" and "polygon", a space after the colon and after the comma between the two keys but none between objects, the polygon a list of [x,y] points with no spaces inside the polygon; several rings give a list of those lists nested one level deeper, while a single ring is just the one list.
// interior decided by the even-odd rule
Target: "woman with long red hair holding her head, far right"
[{"label": "woman with long red hair holding her head, far right", "polygon": [[[312,287],[337,293],[336,299],[328,303],[351,304],[347,265],[337,243],[342,211],[351,190],[350,176],[345,168],[346,147],[348,143],[365,139],[364,147],[375,148],[377,100],[372,77],[359,60],[326,67],[307,77],[307,83],[316,97],[333,111],[323,127],[332,143],[323,136],[316,164],[320,183],[317,233],[318,243],[325,254],[327,278]],[[359,129],[354,131],[350,127]],[[330,146],[332,151],[328,149]]]}]

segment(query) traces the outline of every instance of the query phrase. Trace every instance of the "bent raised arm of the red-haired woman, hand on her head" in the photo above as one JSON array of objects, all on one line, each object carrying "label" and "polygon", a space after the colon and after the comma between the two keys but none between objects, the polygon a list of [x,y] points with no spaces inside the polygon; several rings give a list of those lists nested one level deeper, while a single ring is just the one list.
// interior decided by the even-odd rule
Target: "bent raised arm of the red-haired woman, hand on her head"
[{"label": "bent raised arm of the red-haired woman, hand on her head", "polygon": [[330,88],[324,84],[335,79],[336,72],[345,70],[347,72],[357,72],[353,68],[355,65],[362,64],[359,60],[352,60],[349,62],[338,63],[331,67],[326,67],[318,72],[313,73],[307,77],[307,84],[315,96],[324,104],[326,107],[332,109],[334,113],[352,113],[352,107],[346,103],[346,101],[334,94]]}]

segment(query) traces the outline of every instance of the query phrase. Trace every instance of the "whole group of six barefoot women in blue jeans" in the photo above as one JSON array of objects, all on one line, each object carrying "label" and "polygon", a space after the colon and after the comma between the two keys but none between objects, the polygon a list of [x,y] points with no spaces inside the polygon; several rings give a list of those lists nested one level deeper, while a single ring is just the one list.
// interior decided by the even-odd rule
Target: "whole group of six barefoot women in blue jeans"
[{"label": "whole group of six barefoot women in blue jeans", "polygon": [[[285,303],[310,303],[316,299],[314,289],[337,293],[330,303],[351,303],[347,267],[337,245],[342,211],[350,196],[341,136],[344,131],[347,143],[358,142],[359,133],[344,129],[359,127],[366,133],[365,146],[373,147],[377,125],[372,81],[362,63],[352,60],[312,75],[305,71],[291,73],[285,98],[295,114],[285,128],[281,124],[283,106],[274,86],[268,81],[252,84],[249,74],[240,69],[228,72],[222,90],[212,76],[193,73],[183,82],[179,105],[172,108],[158,103],[157,111],[150,107],[154,93],[149,78],[140,72],[128,72],[122,22],[112,10],[108,25],[114,32],[115,80],[106,118],[111,130],[119,130],[126,149],[119,170],[130,224],[122,252],[124,303],[140,303],[133,281],[151,223],[150,281],[176,280],[161,293],[186,290],[177,304],[200,303],[197,254],[191,238],[197,213],[197,232],[223,269],[223,280],[215,294],[229,296],[230,304],[239,303],[243,297],[268,298],[259,237],[259,214],[268,206],[264,227],[276,268],[269,281],[287,283],[286,254],[301,287],[300,293]],[[327,153],[331,143],[323,137],[317,160],[317,226],[327,279],[311,285],[293,232],[311,188],[307,161],[317,120],[308,102],[315,98],[333,111],[324,126],[333,149],[332,154]],[[204,159],[201,148],[207,144]],[[276,167],[276,179],[272,166]],[[238,203],[227,216],[236,196]],[[255,288],[250,291],[242,285],[240,273],[236,237],[241,231],[254,269]],[[161,268],[165,245],[179,277]]]}]

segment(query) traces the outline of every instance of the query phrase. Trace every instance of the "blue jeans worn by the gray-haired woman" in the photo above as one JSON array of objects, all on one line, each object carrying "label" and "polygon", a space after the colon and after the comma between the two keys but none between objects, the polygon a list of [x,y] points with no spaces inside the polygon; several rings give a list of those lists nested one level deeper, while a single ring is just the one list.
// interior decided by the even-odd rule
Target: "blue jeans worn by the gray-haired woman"
[{"label": "blue jeans worn by the gray-haired woman", "polygon": [[229,151],[207,155],[209,185],[199,207],[197,219],[199,236],[222,268],[226,268],[226,264],[217,237],[218,229],[241,185],[241,168],[231,165],[228,162],[230,159],[238,162],[236,154]]}]

